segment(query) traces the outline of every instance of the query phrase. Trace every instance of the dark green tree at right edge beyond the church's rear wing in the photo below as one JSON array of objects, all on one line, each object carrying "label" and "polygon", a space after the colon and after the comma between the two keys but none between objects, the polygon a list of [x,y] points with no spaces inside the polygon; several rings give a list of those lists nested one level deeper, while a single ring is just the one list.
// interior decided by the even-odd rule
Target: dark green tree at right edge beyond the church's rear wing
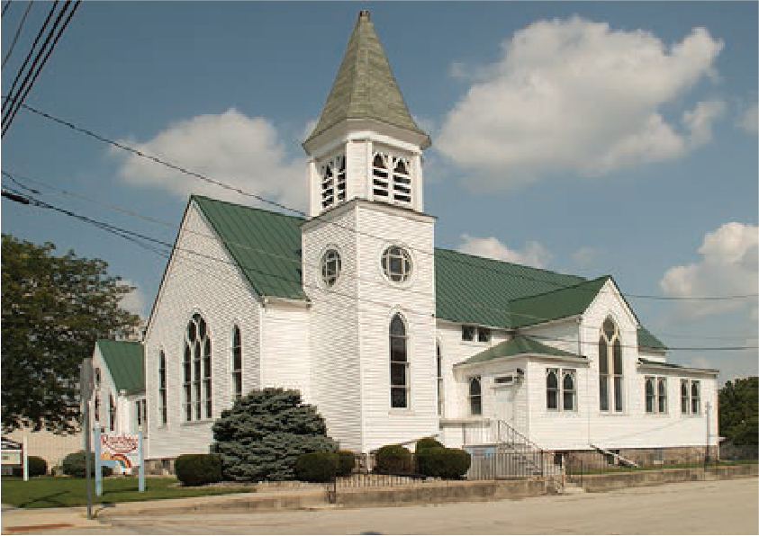
[{"label": "dark green tree at right edge beyond the church's rear wing", "polygon": [[719,435],[736,445],[759,443],[759,377],[725,382],[718,405]]}]

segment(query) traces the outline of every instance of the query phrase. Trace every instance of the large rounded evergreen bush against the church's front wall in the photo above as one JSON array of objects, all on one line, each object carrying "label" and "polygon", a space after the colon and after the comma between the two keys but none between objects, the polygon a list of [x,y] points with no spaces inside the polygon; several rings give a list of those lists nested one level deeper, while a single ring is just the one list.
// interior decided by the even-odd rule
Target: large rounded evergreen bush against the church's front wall
[{"label": "large rounded evergreen bush against the church's front wall", "polygon": [[221,455],[228,480],[292,480],[301,454],[337,450],[316,408],[292,389],[250,391],[221,412],[212,430],[211,451]]}]

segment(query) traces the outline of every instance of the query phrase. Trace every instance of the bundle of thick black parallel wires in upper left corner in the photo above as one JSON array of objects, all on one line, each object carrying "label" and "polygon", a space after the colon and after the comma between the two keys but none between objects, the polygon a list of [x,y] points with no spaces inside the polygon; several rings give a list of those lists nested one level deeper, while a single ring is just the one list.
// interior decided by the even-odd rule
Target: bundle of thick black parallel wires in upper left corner
[{"label": "bundle of thick black parallel wires in upper left corner", "polygon": [[[58,44],[58,41],[60,40],[60,36],[63,35],[63,32],[66,30],[68,26],[68,22],[71,21],[71,17],[74,16],[74,13],[76,13],[77,8],[79,7],[79,4],[81,4],[81,0],[76,0],[74,2],[72,2],[71,0],[67,0],[65,2],[63,8],[60,10],[60,12],[58,13],[58,16],[56,17],[55,22],[53,22],[53,25],[50,28],[50,32],[45,37],[45,40],[43,41],[41,48],[35,54],[37,43],[41,39],[41,36],[45,28],[50,22],[50,18],[52,17],[53,13],[55,13],[56,5],[58,4],[58,2],[59,0],[55,0],[52,7],[50,8],[50,13],[48,13],[48,17],[45,19],[45,22],[40,32],[38,32],[37,38],[34,40],[34,44],[32,45],[32,49],[29,51],[29,54],[24,60],[23,66],[21,67],[21,69],[19,69],[19,72],[14,79],[14,83],[11,86],[11,90],[8,92],[7,99],[3,103],[2,136],[5,136],[5,133],[8,131],[8,129],[10,129],[11,124],[13,123],[16,114],[21,109],[23,101],[26,99],[26,96],[29,94],[29,92],[32,91],[32,86],[37,81],[37,77],[40,76],[42,67],[45,67],[45,64],[50,58],[50,54],[52,54],[53,49],[55,49],[56,45]],[[64,20],[64,17],[65,17],[65,20]],[[56,31],[58,32],[55,33]],[[29,60],[32,58],[32,54],[34,54],[32,66],[26,72],[26,74],[23,75],[23,70],[29,63]],[[15,94],[14,94],[14,88],[18,80],[21,78],[21,76],[23,76],[23,82],[21,85],[18,86],[18,89],[16,89]],[[6,110],[6,106],[8,105],[10,107],[8,107]]]}]

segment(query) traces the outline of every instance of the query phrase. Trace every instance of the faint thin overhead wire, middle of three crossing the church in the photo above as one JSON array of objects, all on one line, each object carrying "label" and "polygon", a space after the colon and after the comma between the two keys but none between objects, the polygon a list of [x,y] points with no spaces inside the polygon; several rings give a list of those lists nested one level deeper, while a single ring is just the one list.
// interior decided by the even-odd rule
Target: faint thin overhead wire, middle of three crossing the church
[{"label": "faint thin overhead wire, middle of three crossing the church", "polygon": [[[61,189],[53,186],[52,184],[46,183],[46,182],[41,181],[39,179],[32,179],[31,177],[27,177],[27,176],[21,176],[21,175],[18,175],[18,174],[11,174],[11,173],[9,173],[6,170],[3,170],[2,174],[5,177],[7,177],[8,179],[14,181],[14,183],[19,184],[19,186],[21,186],[23,189],[27,190],[28,192],[32,192],[34,194],[40,194],[41,192],[38,191],[38,190],[35,190],[33,188],[30,188],[30,187],[24,185],[23,183],[20,183],[19,179],[28,181],[30,183],[36,183],[36,184],[44,185],[45,187],[49,188],[50,190],[52,190],[54,192],[59,192],[61,194],[68,195],[68,196],[71,196],[71,197],[75,197],[75,198],[83,200],[83,201],[92,202],[92,203],[104,206],[105,208],[107,208],[109,210],[113,210],[113,211],[116,211],[116,212],[121,212],[121,213],[127,214],[127,215],[129,215],[131,217],[134,217],[134,218],[137,218],[137,219],[143,219],[143,220],[149,221],[150,223],[155,223],[155,224],[161,225],[162,227],[165,227],[165,228],[170,228],[170,229],[179,229],[180,228],[176,224],[168,223],[166,221],[162,221],[162,220],[159,220],[159,219],[147,218],[147,217],[142,216],[138,212],[135,212],[133,210],[126,210],[126,209],[123,209],[121,207],[117,207],[117,206],[110,205],[108,203],[104,203],[102,201],[97,201],[95,199],[92,199],[90,197],[87,197],[87,196],[82,195],[82,194],[77,193],[77,192],[68,192],[67,190],[61,190]],[[187,229],[187,228],[185,228],[185,232],[188,232],[188,233],[193,234],[194,236],[198,236],[198,237],[210,238],[210,239],[213,239],[213,240],[218,239],[218,237],[216,237],[216,236],[208,235],[208,234],[205,234],[203,232],[196,231],[194,229]],[[260,254],[260,255],[267,255],[268,257],[276,258],[278,260],[285,261],[285,262],[288,262],[288,263],[296,263],[296,264],[298,264],[299,267],[300,266],[307,266],[307,267],[310,267],[310,268],[312,268],[314,270],[316,270],[316,269],[319,268],[319,266],[317,264],[307,263],[307,262],[305,262],[304,260],[302,260],[300,258],[294,258],[292,256],[285,256],[285,255],[278,255],[278,254],[275,254],[275,253],[273,253],[271,251],[267,251],[267,250],[260,249],[260,248],[257,248],[257,247],[249,246],[248,244],[243,244],[243,243],[239,243],[239,242],[230,242],[229,240],[223,240],[223,243],[226,246],[236,246],[236,247],[244,248],[244,249],[247,249],[248,251],[251,251],[251,252],[254,252],[254,253],[257,253],[257,254]],[[375,280],[368,279],[368,278],[362,278],[360,276],[357,276],[356,279],[358,281],[366,281],[366,282],[370,282],[370,283],[374,283],[375,282]],[[412,290],[412,289],[402,289],[402,290],[405,291],[405,292],[411,292],[411,293],[414,293],[414,294],[418,294],[418,295],[426,297],[426,298],[429,298],[429,297],[431,297],[431,296],[434,295],[434,294],[431,294],[429,292],[420,291],[420,290]],[[439,297],[437,295],[434,295],[434,297],[436,299],[436,302],[443,301],[443,300],[439,299]],[[456,303],[459,303],[458,300],[455,300],[455,301],[456,301]],[[484,308],[484,309],[491,310],[491,311],[494,311],[494,312],[498,312],[498,313],[501,313],[501,314],[506,314],[506,315],[509,315],[511,317],[526,317],[526,318],[529,318],[529,319],[535,319],[535,320],[538,320],[538,322],[542,322],[542,321],[545,321],[545,320],[548,319],[548,318],[545,318],[545,317],[538,317],[536,315],[529,315],[529,314],[525,314],[525,313],[516,313],[514,311],[511,311],[509,309],[504,309],[504,308],[487,307],[487,306],[484,306],[483,304],[470,304],[470,306],[473,307],[473,308]],[[525,327],[527,327],[527,326],[525,326]],[[659,332],[657,332],[657,333],[659,333]],[[664,335],[664,333],[660,333],[660,335]],[[670,334],[670,335],[672,335],[672,334]],[[703,338],[703,339],[723,339],[723,340],[724,339],[727,339],[727,340],[729,340],[729,339],[736,339],[736,338],[741,338],[741,339],[745,340],[747,338],[757,338],[756,335],[734,335],[734,336],[730,336],[730,337],[727,337],[727,336],[708,336],[708,335],[701,335],[701,336],[699,336],[699,335],[673,335],[673,336],[690,337],[690,338]]]}]

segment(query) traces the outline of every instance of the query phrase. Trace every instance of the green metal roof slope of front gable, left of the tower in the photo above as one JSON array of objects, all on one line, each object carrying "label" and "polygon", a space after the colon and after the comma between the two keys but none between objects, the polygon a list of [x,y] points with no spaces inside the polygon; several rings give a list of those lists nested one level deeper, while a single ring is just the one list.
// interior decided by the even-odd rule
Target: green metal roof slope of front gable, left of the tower
[{"label": "green metal roof slope of front gable, left of the tower", "polygon": [[302,218],[200,195],[191,201],[259,296],[308,299],[301,273]]}]

